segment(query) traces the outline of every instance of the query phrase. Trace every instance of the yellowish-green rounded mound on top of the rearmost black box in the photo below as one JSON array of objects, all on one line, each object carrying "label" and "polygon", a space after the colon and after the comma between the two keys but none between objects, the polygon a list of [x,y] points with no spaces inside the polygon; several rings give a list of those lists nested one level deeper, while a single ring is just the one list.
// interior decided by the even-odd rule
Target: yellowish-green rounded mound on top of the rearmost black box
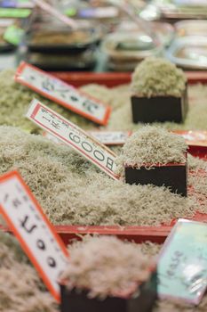
[{"label": "yellowish-green rounded mound on top of the rearmost black box", "polygon": [[150,57],[140,62],[132,74],[131,91],[139,96],[179,97],[186,87],[187,78],[171,62]]}]

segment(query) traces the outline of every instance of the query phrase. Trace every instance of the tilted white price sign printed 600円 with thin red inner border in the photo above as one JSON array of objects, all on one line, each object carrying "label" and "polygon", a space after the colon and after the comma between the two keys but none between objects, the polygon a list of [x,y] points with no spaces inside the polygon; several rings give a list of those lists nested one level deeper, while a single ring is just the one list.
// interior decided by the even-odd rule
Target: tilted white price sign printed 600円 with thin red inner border
[{"label": "tilted white price sign printed 600\u5186 with thin red inner border", "polygon": [[106,172],[108,176],[115,180],[115,158],[114,152],[109,150],[104,144],[92,138],[80,127],[77,127],[68,119],[60,114],[50,110],[47,106],[37,100],[33,100],[28,108],[26,115],[39,127],[52,135],[55,135],[60,141],[68,144],[76,152],[90,160],[94,165]]}]

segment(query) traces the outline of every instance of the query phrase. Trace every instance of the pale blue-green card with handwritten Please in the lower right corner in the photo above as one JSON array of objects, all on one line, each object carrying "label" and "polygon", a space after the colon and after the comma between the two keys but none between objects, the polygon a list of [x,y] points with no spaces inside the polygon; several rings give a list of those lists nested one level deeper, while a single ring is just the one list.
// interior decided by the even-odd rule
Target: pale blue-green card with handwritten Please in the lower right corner
[{"label": "pale blue-green card with handwritten Please in the lower right corner", "polygon": [[158,260],[158,294],[198,305],[207,285],[207,225],[179,219]]}]

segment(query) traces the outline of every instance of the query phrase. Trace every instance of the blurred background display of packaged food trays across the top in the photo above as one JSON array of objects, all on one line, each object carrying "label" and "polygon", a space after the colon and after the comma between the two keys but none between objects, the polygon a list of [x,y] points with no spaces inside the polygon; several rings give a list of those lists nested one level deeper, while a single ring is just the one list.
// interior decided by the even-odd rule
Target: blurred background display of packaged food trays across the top
[{"label": "blurred background display of packaged food trays across the top", "polygon": [[18,46],[16,65],[44,70],[132,71],[148,56],[206,70],[206,17],[202,0],[0,0],[0,53]]}]

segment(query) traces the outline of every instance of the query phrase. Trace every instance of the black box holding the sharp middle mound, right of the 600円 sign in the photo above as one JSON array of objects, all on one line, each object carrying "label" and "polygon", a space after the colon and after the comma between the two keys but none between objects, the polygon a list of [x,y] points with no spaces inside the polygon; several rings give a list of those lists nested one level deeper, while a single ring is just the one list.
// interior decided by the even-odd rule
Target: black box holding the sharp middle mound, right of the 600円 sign
[{"label": "black box holding the sharp middle mound, right of the 600\u5186 sign", "polygon": [[170,187],[172,193],[187,196],[187,161],[140,168],[125,165],[125,182],[130,185]]}]

